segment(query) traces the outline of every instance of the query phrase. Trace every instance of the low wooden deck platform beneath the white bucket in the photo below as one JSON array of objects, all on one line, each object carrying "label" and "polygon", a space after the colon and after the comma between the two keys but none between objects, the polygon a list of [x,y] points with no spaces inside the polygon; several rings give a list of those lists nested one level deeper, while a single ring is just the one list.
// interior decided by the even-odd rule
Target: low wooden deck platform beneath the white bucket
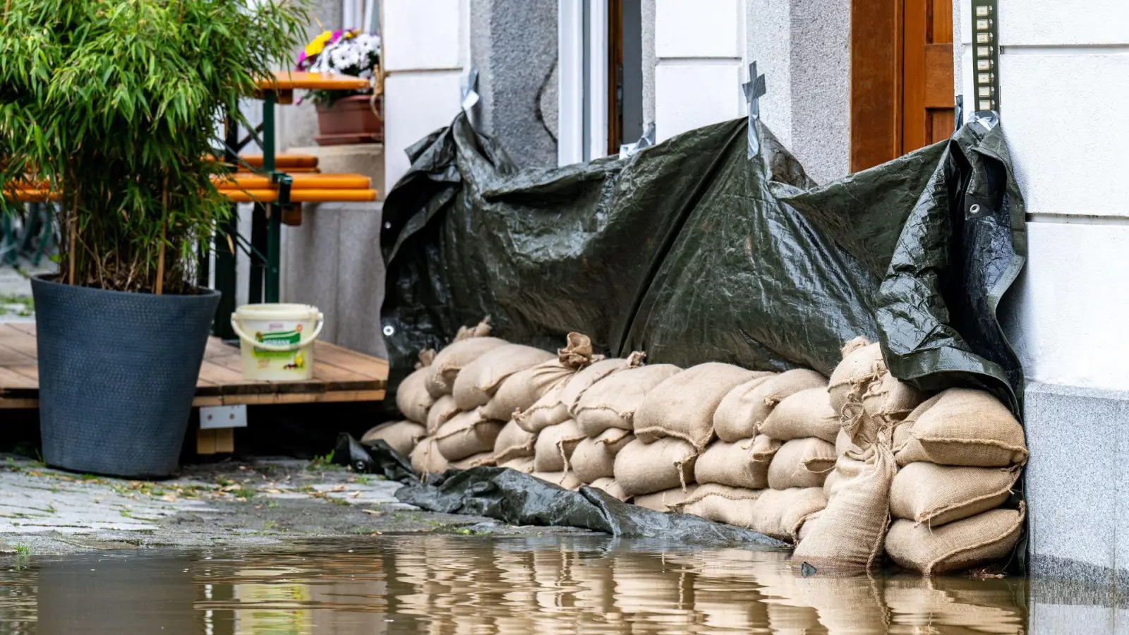
[{"label": "low wooden deck platform beneath the white bucket", "polygon": [[[35,322],[0,323],[0,408],[37,408],[40,375]],[[243,379],[239,348],[208,340],[193,406],[263,406],[329,401],[379,401],[388,363],[326,342],[314,343],[314,379],[256,382]]]}]

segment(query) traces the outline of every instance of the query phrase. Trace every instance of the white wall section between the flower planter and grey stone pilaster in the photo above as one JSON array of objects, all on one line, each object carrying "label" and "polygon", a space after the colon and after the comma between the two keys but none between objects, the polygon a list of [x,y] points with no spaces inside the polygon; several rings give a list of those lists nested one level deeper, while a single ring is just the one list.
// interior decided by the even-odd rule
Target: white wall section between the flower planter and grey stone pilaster
[{"label": "white wall section between the flower planter and grey stone pilaster", "polygon": [[404,148],[450,123],[470,60],[470,0],[384,0],[385,191],[411,167]]}]

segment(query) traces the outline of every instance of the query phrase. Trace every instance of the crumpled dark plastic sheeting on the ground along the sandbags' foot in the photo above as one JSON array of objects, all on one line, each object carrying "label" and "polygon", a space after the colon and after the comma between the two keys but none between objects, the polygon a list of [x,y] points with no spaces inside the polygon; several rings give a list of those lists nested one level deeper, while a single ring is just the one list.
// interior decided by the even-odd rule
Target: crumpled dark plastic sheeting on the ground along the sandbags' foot
[{"label": "crumpled dark plastic sheeting on the ground along the sandbags' foot", "polygon": [[509,468],[452,469],[421,478],[404,456],[383,441],[362,445],[341,434],[333,456],[335,462],[357,471],[376,472],[403,484],[396,498],[430,512],[487,516],[515,525],[576,527],[621,538],[785,547],[762,533],[690,514],[628,505],[592,487],[571,492]]}]

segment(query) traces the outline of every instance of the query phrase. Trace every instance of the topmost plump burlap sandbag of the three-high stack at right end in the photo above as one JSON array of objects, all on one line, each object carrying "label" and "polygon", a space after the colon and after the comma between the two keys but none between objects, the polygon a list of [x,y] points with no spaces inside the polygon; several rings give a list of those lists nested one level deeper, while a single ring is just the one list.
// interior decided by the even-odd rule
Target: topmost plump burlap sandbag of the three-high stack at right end
[{"label": "topmost plump burlap sandbag of the three-high stack at right end", "polygon": [[895,428],[899,466],[1006,468],[1027,461],[1023,427],[988,392],[948,389],[919,406]]}]

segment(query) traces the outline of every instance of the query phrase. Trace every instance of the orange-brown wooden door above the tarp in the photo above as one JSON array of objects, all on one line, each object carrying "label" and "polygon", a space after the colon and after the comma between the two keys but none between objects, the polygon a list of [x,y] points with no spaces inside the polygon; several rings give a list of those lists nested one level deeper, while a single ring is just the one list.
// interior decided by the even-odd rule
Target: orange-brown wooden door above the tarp
[{"label": "orange-brown wooden door above the tarp", "polygon": [[851,3],[851,172],[953,133],[953,0]]}]

